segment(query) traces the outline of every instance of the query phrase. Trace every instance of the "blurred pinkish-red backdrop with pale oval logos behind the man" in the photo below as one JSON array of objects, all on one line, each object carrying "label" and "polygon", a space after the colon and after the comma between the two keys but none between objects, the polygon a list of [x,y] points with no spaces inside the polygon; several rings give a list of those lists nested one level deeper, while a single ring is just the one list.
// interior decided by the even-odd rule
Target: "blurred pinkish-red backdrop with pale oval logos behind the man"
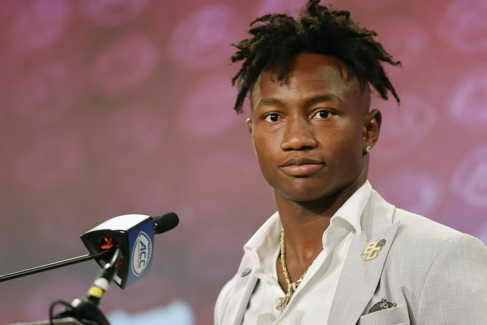
[{"label": "blurred pinkish-red backdrop with pale oval logos behind the man", "polygon": [[[0,274],[86,252],[111,217],[179,214],[151,274],[101,303],[114,324],[211,324],[243,244],[274,212],[230,46],[304,0],[0,2]],[[376,98],[369,180],[388,201],[487,242],[487,2],[337,0],[403,68]],[[83,296],[90,261],[0,283],[0,323]]]}]

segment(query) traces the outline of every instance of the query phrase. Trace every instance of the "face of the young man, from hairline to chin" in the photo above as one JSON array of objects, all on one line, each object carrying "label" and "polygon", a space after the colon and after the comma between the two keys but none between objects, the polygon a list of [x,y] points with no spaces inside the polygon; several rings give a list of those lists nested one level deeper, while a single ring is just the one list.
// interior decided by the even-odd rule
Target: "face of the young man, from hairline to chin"
[{"label": "face of the young man, from hairline to chin", "polygon": [[364,168],[366,175],[369,104],[368,88],[331,56],[296,55],[284,84],[264,70],[251,92],[248,125],[266,181],[304,202],[353,184]]}]

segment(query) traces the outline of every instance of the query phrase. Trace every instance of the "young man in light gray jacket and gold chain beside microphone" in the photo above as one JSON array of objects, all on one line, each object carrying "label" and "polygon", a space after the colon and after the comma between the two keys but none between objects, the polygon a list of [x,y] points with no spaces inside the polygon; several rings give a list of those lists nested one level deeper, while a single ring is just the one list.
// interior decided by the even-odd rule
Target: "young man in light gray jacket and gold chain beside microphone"
[{"label": "young man in light gray jacket and gold chain beside microphone", "polygon": [[380,62],[399,64],[349,12],[310,0],[271,14],[236,45],[237,112],[247,120],[277,212],[244,246],[215,323],[487,324],[487,248],[396,209],[367,181],[381,114],[370,88],[399,98]]}]

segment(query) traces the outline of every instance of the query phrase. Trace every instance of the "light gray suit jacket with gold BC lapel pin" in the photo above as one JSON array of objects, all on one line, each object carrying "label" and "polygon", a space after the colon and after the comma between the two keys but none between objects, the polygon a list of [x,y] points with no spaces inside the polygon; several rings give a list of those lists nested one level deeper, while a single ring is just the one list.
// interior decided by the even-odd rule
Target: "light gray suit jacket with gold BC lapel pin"
[{"label": "light gray suit jacket with gold BC lapel pin", "polygon": [[[461,216],[459,216],[461,217]],[[387,203],[372,190],[344,261],[328,324],[487,325],[487,247],[470,235]],[[386,240],[364,261],[367,243]],[[257,283],[250,256],[224,286],[215,324],[240,325]],[[397,306],[368,313],[382,298]],[[310,324],[314,325],[314,324]]]}]

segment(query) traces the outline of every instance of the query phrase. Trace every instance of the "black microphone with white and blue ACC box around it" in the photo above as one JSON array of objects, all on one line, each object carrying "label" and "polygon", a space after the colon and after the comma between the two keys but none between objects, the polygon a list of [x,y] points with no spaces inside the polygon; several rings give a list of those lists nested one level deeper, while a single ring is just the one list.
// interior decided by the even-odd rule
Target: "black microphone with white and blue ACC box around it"
[{"label": "black microphone with white and blue ACC box around it", "polygon": [[[154,217],[143,214],[121,215],[87,231],[81,235],[81,240],[91,254],[112,247],[120,249],[113,281],[124,289],[149,274],[154,234],[169,231],[178,223],[179,218],[174,212]],[[108,261],[105,256],[96,258],[96,262],[102,268]]]}]

